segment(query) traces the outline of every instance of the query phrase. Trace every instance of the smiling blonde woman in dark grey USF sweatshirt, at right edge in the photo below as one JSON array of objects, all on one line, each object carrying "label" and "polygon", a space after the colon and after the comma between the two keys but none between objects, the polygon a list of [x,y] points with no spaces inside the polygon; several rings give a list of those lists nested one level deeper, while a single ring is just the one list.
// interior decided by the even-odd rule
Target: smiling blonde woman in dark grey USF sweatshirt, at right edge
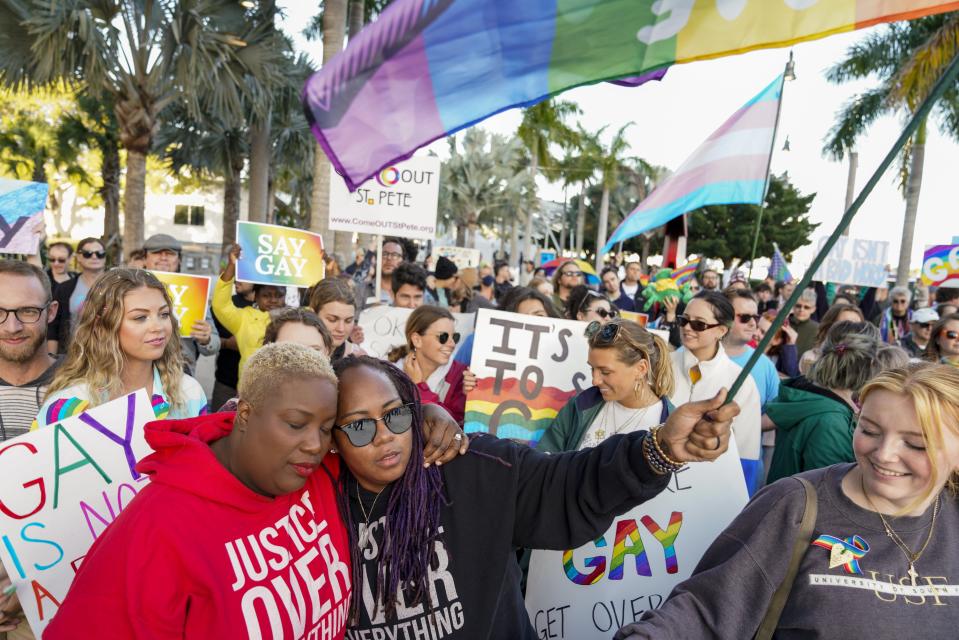
[{"label": "smiling blonde woman in dark grey USF sweatshirt, at right edge", "polygon": [[753,638],[764,614],[765,638],[956,637],[959,371],[885,371],[860,397],[855,463],[764,488],[616,640]]}]

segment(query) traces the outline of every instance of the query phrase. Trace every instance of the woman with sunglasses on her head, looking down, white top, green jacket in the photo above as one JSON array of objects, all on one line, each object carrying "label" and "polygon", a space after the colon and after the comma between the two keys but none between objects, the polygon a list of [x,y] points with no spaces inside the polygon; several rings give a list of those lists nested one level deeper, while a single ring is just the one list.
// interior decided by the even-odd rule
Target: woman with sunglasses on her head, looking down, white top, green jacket
[{"label": "woman with sunglasses on her head, looking down, white top, green jacket", "polygon": [[629,320],[586,327],[593,386],[566,403],[536,445],[540,451],[595,447],[610,436],[666,421],[673,406],[669,347]]}]

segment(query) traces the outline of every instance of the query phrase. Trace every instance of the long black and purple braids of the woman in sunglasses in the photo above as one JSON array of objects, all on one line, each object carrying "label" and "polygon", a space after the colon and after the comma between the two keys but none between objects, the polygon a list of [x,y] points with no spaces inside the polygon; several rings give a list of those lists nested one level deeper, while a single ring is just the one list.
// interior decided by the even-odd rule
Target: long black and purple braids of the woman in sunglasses
[{"label": "long black and purple braids of the woman in sunglasses", "polygon": [[[383,545],[376,584],[373,585],[374,602],[385,604],[387,618],[396,614],[396,600],[400,589],[410,594],[408,606],[415,606],[428,599],[429,571],[434,562],[433,542],[439,538],[440,508],[448,504],[443,494],[443,480],[436,465],[423,466],[423,412],[420,395],[413,381],[389,362],[369,356],[351,356],[333,364],[337,378],[350,369],[365,367],[383,373],[396,388],[404,404],[413,408],[411,427],[413,444],[406,471],[394,483],[386,506],[386,526],[383,528]],[[359,620],[362,600],[362,558],[358,533],[350,517],[347,480],[352,477],[344,468],[340,474],[337,504],[346,523],[350,543],[353,599],[350,603],[350,624]],[[355,481],[355,480],[354,480]],[[408,590],[408,591],[407,591]]]}]

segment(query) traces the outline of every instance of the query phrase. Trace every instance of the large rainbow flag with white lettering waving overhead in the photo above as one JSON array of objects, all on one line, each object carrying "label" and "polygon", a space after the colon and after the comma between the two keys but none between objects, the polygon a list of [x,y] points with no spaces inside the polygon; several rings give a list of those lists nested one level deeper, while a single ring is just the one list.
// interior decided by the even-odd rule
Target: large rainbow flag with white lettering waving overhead
[{"label": "large rainbow flag with white lettering waving overhead", "polygon": [[396,0],[304,88],[355,189],[512,107],[673,64],[959,9],[943,0]]}]

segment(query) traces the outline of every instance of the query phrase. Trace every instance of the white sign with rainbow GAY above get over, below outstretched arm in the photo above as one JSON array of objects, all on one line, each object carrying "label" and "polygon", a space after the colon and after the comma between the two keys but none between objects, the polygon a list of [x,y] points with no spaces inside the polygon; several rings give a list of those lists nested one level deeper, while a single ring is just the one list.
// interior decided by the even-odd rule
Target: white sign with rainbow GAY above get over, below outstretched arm
[{"label": "white sign with rainbow GAY above get over, below outstretched arm", "polygon": [[739,452],[691,464],[660,495],[578,549],[533,551],[526,610],[537,637],[608,640],[659,607],[748,500]]}]

